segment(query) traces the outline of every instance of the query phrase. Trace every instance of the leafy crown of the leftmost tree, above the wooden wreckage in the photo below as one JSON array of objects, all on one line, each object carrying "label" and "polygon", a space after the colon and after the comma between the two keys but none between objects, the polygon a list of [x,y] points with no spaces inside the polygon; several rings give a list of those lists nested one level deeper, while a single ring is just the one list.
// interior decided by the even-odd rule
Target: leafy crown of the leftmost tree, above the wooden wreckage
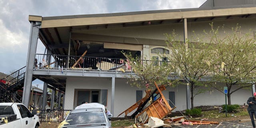
[{"label": "leafy crown of the leftmost tree, above the wooden wreckage", "polygon": [[133,57],[131,54],[123,54],[127,58],[125,63],[132,67],[132,71],[135,74],[129,75],[131,86],[153,89],[155,88],[154,81],[157,84],[171,85],[170,80],[168,80],[170,69],[166,68],[167,62],[158,61],[155,58],[152,58],[152,60],[141,60],[138,56]]}]

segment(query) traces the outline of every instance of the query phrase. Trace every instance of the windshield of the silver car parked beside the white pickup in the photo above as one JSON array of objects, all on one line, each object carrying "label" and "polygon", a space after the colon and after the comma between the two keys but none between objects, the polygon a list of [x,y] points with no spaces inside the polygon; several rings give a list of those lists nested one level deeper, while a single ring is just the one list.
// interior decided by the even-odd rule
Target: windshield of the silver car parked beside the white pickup
[{"label": "windshield of the silver car parked beside the white pickup", "polygon": [[[70,120],[70,121],[69,121]],[[104,112],[77,112],[70,113],[66,121],[68,125],[78,125],[78,124],[102,124],[106,123]]]}]

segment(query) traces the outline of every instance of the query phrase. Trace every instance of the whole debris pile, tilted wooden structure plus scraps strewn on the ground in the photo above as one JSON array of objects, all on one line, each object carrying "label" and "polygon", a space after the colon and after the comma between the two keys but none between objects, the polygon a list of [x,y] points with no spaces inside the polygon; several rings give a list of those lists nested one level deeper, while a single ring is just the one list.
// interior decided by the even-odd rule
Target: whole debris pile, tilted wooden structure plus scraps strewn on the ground
[{"label": "whole debris pile, tilted wooden structure plus scraps strewn on the ground", "polygon": [[[131,115],[132,118],[135,118],[135,124],[132,125],[133,128],[138,127],[170,127],[170,125],[200,125],[200,124],[219,124],[218,122],[212,122],[207,119],[202,120],[184,120],[186,116],[178,117],[169,117],[164,118],[170,114],[176,107],[171,108],[168,102],[166,101],[164,95],[162,94],[163,90],[166,90],[165,86],[162,85],[158,87],[155,82],[156,89],[154,91],[145,90],[146,96],[130,106],[128,109],[124,110],[121,114],[129,114],[137,110]],[[218,107],[214,107],[218,109]],[[118,116],[120,116],[119,114]],[[187,118],[186,118],[187,119]]]}]

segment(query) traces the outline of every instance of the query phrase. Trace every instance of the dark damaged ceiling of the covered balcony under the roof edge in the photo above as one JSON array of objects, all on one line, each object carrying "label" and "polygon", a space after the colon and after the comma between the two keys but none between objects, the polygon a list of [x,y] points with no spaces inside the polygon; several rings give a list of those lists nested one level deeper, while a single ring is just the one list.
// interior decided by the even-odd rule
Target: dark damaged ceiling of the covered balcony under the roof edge
[{"label": "dark damaged ceiling of the covered balcony under the roof edge", "polygon": [[[213,16],[204,18],[188,18],[187,22],[200,22],[238,19],[238,18],[255,18],[256,14],[243,14],[243,15],[230,15],[230,16]],[[53,54],[68,55],[69,41],[71,41],[70,55],[80,56],[85,50],[88,50],[86,56],[100,56],[100,57],[115,57],[121,54],[121,50],[104,48],[104,42],[116,39],[114,43],[120,43],[124,37],[117,36],[104,36],[96,34],[88,34],[88,30],[103,30],[111,28],[126,28],[136,26],[152,26],[161,24],[182,24],[182,19],[166,19],[166,20],[153,20],[143,22],[126,22],[114,24],[97,24],[97,25],[84,25],[84,26],[66,26],[54,28],[41,28],[39,38],[46,48],[51,49]],[[85,34],[87,33],[87,34]],[[71,36],[71,37],[70,37]],[[71,40],[70,40],[71,38]],[[136,43],[136,41],[134,40]],[[123,43],[123,42],[122,42]],[[132,42],[130,42],[132,43]],[[150,45],[150,44],[149,44]],[[118,55],[117,55],[118,54]]]}]

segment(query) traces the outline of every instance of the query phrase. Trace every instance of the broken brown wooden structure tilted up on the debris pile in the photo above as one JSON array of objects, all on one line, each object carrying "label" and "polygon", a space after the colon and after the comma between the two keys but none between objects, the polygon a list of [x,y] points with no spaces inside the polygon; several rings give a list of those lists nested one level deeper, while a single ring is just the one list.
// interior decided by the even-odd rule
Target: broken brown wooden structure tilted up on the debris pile
[{"label": "broken brown wooden structure tilted up on the debris pile", "polygon": [[165,86],[162,85],[158,87],[156,82],[154,84],[156,86],[154,91],[151,92],[151,90],[145,90],[146,96],[121,114],[125,113],[125,116],[127,116],[128,113],[137,108],[137,110],[131,115],[132,118],[135,118],[136,123],[147,123],[148,118],[151,116],[162,119],[170,114],[176,107],[171,108],[162,94],[162,90],[166,90]]}]

